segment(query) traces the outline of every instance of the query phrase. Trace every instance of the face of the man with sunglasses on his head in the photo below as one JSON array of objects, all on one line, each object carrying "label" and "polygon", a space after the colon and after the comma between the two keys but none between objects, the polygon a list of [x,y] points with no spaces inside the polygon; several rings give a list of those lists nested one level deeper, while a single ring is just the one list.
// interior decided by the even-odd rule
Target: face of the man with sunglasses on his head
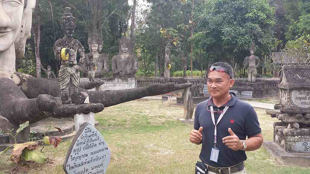
[{"label": "face of the man with sunglasses on his head", "polygon": [[226,72],[211,71],[207,79],[208,92],[214,98],[226,97],[234,82]]}]

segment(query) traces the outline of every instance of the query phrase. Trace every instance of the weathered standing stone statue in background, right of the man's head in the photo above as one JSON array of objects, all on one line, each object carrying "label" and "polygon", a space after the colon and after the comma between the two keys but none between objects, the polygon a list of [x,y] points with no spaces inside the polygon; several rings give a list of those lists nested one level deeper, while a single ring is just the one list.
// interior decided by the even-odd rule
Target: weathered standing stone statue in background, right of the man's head
[{"label": "weathered standing stone statue in background, right of the man's head", "polygon": [[256,68],[259,66],[259,57],[254,55],[255,53],[255,45],[252,44],[250,48],[250,56],[246,57],[244,60],[244,66],[248,67],[248,82],[255,82],[257,70]]}]

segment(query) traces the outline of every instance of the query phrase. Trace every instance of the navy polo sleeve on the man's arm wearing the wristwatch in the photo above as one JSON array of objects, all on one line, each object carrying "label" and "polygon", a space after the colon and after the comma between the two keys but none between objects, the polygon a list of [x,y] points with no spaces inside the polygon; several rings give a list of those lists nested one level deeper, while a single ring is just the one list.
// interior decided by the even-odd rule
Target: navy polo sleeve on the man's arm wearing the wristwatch
[{"label": "navy polo sleeve on the man's arm wearing the wristwatch", "polygon": [[262,132],[261,128],[259,127],[257,114],[253,107],[250,108],[250,110],[246,115],[245,129],[248,138],[253,137]]}]

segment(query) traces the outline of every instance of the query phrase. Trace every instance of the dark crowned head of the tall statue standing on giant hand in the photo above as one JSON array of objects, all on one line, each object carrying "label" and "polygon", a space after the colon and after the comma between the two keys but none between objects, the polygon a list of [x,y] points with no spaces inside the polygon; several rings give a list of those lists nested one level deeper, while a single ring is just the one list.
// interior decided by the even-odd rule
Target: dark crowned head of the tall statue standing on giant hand
[{"label": "dark crowned head of the tall statue standing on giant hand", "polygon": [[71,8],[64,8],[64,16],[61,17],[61,28],[65,37],[73,37],[75,28],[75,18],[72,16]]}]

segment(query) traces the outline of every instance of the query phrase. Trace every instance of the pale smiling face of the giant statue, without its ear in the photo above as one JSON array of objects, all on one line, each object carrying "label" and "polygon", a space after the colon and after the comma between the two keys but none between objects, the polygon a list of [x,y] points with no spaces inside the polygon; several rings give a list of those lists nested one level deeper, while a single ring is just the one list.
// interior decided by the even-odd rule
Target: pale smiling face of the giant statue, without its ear
[{"label": "pale smiling face of the giant statue, without its ear", "polygon": [[14,43],[20,31],[23,10],[24,0],[0,1],[0,52]]}]

